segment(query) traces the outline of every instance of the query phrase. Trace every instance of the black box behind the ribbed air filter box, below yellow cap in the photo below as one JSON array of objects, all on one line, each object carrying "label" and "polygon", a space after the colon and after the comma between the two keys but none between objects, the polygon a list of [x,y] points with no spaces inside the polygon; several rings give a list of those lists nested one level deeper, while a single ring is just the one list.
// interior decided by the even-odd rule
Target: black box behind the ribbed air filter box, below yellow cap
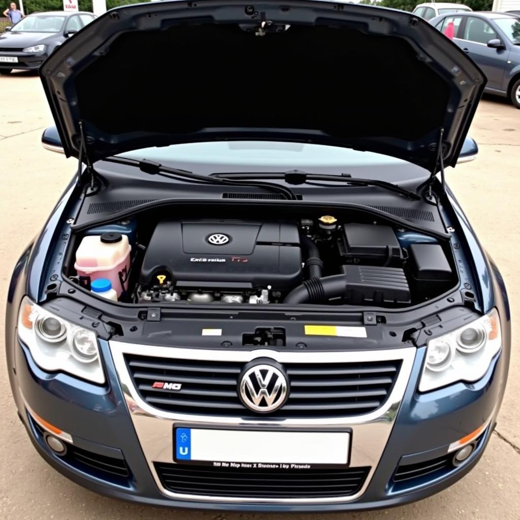
[{"label": "black box behind the ribbed air filter box, below yellow cap", "polygon": [[383,265],[401,258],[401,246],[390,226],[345,224],[340,254],[348,263],[355,264],[362,259]]}]

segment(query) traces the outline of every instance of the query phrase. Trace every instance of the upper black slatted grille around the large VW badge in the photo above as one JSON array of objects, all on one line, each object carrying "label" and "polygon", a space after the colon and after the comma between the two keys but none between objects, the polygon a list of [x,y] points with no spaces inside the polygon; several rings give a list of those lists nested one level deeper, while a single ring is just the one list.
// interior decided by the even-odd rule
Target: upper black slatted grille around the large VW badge
[{"label": "upper black slatted grille around the large VW badge", "polygon": [[[161,410],[200,415],[258,417],[237,394],[244,363],[125,355],[139,395]],[[386,401],[400,360],[357,363],[284,363],[290,393],[269,417],[349,417],[369,413]],[[180,391],[153,388],[154,382],[180,383]]]}]

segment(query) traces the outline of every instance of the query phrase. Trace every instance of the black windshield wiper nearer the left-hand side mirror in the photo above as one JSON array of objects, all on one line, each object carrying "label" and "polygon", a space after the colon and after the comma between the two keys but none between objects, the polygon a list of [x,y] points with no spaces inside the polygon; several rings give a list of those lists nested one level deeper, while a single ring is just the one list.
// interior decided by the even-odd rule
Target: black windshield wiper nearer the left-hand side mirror
[{"label": "black windshield wiper nearer the left-hand side mirror", "polygon": [[214,176],[199,175],[197,173],[188,172],[186,170],[179,170],[178,168],[163,166],[158,162],[148,161],[146,159],[138,161],[136,159],[126,159],[124,157],[114,156],[107,157],[106,159],[103,159],[103,161],[123,164],[126,166],[133,166],[139,168],[141,172],[145,172],[150,175],[163,175],[168,178],[180,178],[201,184],[212,184],[220,186],[252,186],[255,188],[265,188],[281,193],[287,200],[298,200],[291,188],[282,186],[281,184],[265,183],[257,180],[225,179]]}]

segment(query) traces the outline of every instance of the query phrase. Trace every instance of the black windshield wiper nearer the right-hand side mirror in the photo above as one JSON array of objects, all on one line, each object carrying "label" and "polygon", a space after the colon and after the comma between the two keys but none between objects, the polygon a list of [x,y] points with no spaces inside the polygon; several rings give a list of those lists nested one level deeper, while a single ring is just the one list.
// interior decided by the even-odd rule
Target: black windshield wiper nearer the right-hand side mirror
[{"label": "black windshield wiper nearer the right-hand side mirror", "polygon": [[334,183],[344,183],[351,186],[378,186],[385,190],[394,191],[408,197],[412,200],[421,200],[421,197],[414,191],[401,188],[392,183],[388,183],[385,180],[376,179],[360,179],[356,177],[350,177],[347,175],[327,175],[321,173],[306,173],[298,170],[285,173],[213,173],[212,177],[225,178],[225,179],[281,179],[287,184],[305,184],[309,180],[320,180],[330,181]]}]

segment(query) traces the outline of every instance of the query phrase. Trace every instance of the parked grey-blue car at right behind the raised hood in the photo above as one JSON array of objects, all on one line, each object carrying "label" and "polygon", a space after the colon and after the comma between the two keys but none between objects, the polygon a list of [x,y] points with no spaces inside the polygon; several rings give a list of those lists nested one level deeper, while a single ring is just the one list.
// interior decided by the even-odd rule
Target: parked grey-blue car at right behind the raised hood
[{"label": "parked grey-blue car at right behind the raised hood", "polygon": [[520,19],[505,12],[458,12],[430,20],[487,77],[486,92],[520,108]]}]

